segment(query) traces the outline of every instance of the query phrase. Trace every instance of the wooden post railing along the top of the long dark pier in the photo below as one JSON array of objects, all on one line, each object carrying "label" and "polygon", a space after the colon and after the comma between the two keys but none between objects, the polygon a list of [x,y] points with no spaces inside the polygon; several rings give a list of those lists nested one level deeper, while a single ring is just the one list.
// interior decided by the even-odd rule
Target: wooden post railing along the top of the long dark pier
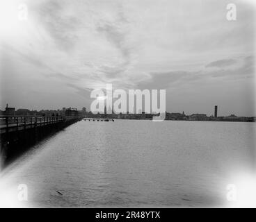
[{"label": "wooden post railing along the top of the long dark pier", "polygon": [[0,133],[78,119],[69,116],[0,116]]}]

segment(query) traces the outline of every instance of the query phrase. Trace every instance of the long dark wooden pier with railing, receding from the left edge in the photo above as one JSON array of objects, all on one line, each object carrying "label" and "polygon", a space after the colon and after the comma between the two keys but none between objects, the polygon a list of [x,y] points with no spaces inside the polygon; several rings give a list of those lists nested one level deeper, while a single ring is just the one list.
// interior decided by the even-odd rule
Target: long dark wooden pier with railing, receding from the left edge
[{"label": "long dark wooden pier with railing, receding from the left edge", "polygon": [[0,164],[7,164],[42,139],[81,119],[77,116],[0,116]]}]

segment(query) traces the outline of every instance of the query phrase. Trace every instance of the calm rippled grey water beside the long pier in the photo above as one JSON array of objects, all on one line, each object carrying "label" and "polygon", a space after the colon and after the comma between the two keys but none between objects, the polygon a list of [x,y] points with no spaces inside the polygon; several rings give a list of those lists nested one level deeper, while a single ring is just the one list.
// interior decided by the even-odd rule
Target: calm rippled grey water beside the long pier
[{"label": "calm rippled grey water beside the long pier", "polygon": [[254,163],[254,137],[255,123],[80,121],[33,147],[2,181],[26,184],[33,207],[224,206],[232,173]]}]

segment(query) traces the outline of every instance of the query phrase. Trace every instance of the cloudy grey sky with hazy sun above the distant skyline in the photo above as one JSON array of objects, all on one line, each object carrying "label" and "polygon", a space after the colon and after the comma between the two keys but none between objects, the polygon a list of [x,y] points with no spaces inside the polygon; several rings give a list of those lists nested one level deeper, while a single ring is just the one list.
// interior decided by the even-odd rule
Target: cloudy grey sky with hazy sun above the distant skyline
[{"label": "cloudy grey sky with hazy sun above the distant skyline", "polygon": [[1,1],[0,109],[89,110],[112,83],[166,89],[168,112],[254,116],[255,5],[232,0],[228,21],[228,3]]}]

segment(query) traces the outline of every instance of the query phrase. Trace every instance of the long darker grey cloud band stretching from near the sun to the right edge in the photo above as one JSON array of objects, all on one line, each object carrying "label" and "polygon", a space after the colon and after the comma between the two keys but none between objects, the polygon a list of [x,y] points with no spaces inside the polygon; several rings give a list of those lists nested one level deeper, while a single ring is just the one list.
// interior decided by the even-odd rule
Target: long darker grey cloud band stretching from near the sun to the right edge
[{"label": "long darker grey cloud band stretching from near the sun to the right edge", "polygon": [[[235,65],[235,66],[234,66]],[[138,83],[141,89],[170,89],[183,85],[193,87],[199,83],[207,85],[213,83],[213,79],[237,80],[254,77],[254,57],[246,56],[237,59],[227,58],[217,60],[205,65],[206,68],[197,71],[154,71],[150,72],[147,79]],[[209,69],[211,67],[211,69]],[[212,69],[212,67],[214,69]]]}]

